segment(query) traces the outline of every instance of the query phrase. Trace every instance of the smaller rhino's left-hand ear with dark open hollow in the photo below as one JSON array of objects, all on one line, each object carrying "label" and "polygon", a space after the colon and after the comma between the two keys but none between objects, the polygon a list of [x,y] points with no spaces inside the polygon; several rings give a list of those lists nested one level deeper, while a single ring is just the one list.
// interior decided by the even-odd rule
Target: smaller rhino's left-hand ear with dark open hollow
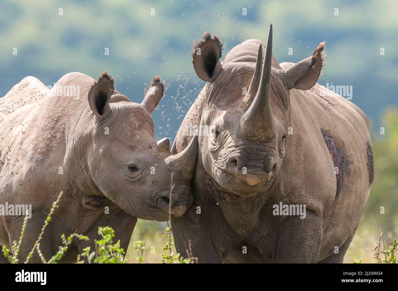
[{"label": "smaller rhino's left-hand ear with dark open hollow", "polygon": [[105,118],[110,111],[109,99],[113,93],[114,82],[115,80],[111,75],[103,72],[88,92],[88,104],[99,118]]}]

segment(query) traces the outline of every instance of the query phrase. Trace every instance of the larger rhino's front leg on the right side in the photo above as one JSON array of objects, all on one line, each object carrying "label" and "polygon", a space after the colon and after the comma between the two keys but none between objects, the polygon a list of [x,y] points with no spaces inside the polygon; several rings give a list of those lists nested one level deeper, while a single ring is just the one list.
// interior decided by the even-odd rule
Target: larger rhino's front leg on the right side
[{"label": "larger rhino's front leg on the right side", "polygon": [[316,263],[322,244],[322,214],[287,216],[279,230],[275,263]]}]

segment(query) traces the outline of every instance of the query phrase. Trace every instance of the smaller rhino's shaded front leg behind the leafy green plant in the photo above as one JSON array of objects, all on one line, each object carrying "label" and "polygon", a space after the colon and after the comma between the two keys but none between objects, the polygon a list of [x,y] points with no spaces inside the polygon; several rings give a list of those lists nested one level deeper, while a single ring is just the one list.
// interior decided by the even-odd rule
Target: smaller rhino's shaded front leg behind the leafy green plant
[{"label": "smaller rhino's shaded front leg behind the leafy green plant", "polygon": [[[102,214],[96,222],[90,227],[90,229],[84,234],[89,238],[89,241],[80,241],[78,244],[79,254],[83,252],[83,249],[90,247],[90,252],[95,250],[94,241],[97,239],[102,239],[98,234],[98,227],[109,226],[115,231],[115,237],[113,238],[113,243],[120,240],[120,247],[127,251],[129,246],[131,235],[135,224],[137,223],[137,218],[131,216],[127,212],[120,210],[115,214]],[[88,263],[87,258],[84,259],[85,263]]]}]

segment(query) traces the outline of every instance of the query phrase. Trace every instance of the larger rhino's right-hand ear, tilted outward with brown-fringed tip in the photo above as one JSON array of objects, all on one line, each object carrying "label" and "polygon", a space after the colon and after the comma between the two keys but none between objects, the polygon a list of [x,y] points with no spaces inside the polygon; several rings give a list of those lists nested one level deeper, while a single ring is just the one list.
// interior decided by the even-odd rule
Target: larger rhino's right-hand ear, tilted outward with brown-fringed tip
[{"label": "larger rhino's right-hand ear, tilted outward with brown-fringed tip", "polygon": [[289,89],[308,90],[314,87],[324,66],[324,49],[325,42],[321,42],[312,56],[283,71]]}]

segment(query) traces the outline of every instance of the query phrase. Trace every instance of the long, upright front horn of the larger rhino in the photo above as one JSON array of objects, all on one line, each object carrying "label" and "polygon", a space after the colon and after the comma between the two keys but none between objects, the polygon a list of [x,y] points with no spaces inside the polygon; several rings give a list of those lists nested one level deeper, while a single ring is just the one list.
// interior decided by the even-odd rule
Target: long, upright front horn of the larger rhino
[{"label": "long, upright front horn of the larger rhino", "polygon": [[[259,48],[261,50],[261,46]],[[259,56],[261,57],[262,54]],[[258,63],[259,60],[257,60]],[[275,124],[272,116],[271,103],[269,100],[269,85],[271,83],[271,61],[272,61],[272,23],[269,26],[267,47],[265,48],[265,58],[261,80],[256,97],[249,109],[240,119],[240,131],[242,135],[250,140],[266,140],[275,131]],[[256,65],[256,70],[258,64]],[[255,71],[256,75],[256,71]],[[255,79],[256,76],[253,77]],[[253,80],[252,80],[253,83]],[[252,86],[252,84],[250,84]]]}]

